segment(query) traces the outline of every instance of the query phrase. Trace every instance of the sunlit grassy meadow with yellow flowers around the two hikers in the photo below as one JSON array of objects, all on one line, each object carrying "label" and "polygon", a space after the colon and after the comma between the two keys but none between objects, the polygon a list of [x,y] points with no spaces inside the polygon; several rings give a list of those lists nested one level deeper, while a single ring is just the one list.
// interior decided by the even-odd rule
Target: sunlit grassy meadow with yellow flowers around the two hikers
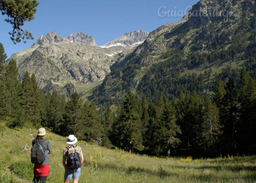
[{"label": "sunlit grassy meadow with yellow flowers around the two hikers", "polygon": [[[0,124],[1,183],[28,183],[33,179],[30,162],[31,141],[37,130],[9,129]],[[62,183],[65,137],[48,131],[52,146],[47,183]],[[255,183],[255,156],[227,156],[215,159],[157,158],[106,149],[86,142],[82,147],[85,163],[79,183]]]}]

